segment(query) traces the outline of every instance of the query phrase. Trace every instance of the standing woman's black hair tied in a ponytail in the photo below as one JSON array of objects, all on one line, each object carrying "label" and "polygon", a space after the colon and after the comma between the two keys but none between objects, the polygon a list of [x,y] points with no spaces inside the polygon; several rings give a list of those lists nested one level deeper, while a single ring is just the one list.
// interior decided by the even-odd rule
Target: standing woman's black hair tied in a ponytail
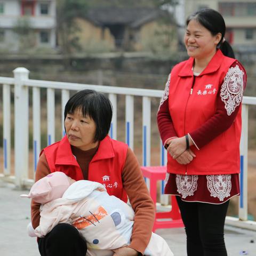
[{"label": "standing woman's black hair tied in a ponytail", "polygon": [[222,15],[219,12],[213,9],[199,10],[191,14],[187,18],[187,26],[191,20],[196,20],[197,22],[199,22],[203,27],[208,29],[213,36],[220,33],[221,39],[217,45],[217,48],[220,49],[224,55],[230,58],[235,58],[235,54],[232,47],[226,40],[223,40],[226,33],[226,24],[225,20],[223,19]]}]

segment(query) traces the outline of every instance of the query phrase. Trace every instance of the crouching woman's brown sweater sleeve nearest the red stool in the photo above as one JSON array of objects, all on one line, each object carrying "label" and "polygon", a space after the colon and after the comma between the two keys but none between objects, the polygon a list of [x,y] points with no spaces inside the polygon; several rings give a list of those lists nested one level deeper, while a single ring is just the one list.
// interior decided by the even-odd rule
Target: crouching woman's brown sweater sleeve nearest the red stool
[{"label": "crouching woman's brown sweater sleeve nearest the red stool", "polygon": [[151,238],[155,206],[143,179],[140,164],[130,148],[127,151],[122,177],[124,189],[135,212],[129,247],[143,254]]}]

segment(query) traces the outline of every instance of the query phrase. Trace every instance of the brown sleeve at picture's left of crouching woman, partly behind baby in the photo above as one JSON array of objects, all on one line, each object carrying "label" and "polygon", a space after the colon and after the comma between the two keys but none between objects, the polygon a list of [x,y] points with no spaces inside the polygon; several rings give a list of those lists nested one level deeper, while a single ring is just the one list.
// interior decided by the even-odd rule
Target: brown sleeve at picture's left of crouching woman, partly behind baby
[{"label": "brown sleeve at picture's left of crouching woman, partly behind baby", "polygon": [[[37,167],[36,167],[36,177],[35,177],[35,182],[38,181],[39,179],[42,179],[46,175],[51,173],[49,166],[47,164],[46,158],[44,153],[39,157]],[[40,208],[39,203],[36,203],[34,200],[31,200],[31,223],[33,228],[35,229],[36,227],[39,226],[39,221],[40,221]]]}]

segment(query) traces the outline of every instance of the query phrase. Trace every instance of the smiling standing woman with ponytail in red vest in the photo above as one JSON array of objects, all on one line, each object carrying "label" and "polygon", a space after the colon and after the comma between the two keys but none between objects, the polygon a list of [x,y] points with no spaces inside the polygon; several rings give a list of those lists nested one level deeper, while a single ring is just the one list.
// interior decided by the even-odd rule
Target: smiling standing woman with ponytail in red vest
[{"label": "smiling standing woman with ponytail in red vest", "polygon": [[221,14],[187,19],[189,59],[171,70],[157,123],[167,149],[165,194],[176,195],[188,256],[226,256],[229,199],[239,195],[239,141],[246,72],[225,41]]}]

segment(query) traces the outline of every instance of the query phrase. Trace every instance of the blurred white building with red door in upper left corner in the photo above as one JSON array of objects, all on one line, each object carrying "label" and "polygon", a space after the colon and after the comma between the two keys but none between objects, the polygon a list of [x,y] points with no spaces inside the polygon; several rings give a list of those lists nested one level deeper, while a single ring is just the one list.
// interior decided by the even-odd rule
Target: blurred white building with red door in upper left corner
[{"label": "blurred white building with red door in upper left corner", "polygon": [[0,0],[0,49],[55,47],[55,29],[55,0]]}]

